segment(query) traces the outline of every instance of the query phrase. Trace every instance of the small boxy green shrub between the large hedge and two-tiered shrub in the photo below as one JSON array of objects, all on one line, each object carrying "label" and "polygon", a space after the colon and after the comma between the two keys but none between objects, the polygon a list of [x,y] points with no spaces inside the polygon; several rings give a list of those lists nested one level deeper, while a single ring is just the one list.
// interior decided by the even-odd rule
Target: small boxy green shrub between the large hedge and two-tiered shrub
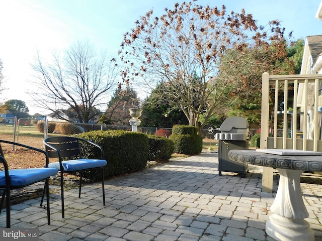
[{"label": "small boxy green shrub between the large hedge and two-tiered shrub", "polygon": [[160,136],[148,135],[149,161],[167,161],[174,152],[173,141]]}]

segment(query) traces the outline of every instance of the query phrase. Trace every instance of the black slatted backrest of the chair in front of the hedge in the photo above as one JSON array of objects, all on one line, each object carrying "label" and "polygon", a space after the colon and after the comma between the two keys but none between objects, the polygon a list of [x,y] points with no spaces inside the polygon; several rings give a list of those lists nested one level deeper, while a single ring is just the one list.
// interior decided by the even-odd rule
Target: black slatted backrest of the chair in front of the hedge
[{"label": "black slatted backrest of the chair in front of the hedge", "polygon": [[[44,140],[49,158],[82,158],[79,139],[75,137],[48,137]],[[46,145],[46,144],[49,144]],[[53,148],[56,150],[54,150]],[[59,154],[57,152],[59,151]],[[60,155],[60,157],[59,157]]]}]

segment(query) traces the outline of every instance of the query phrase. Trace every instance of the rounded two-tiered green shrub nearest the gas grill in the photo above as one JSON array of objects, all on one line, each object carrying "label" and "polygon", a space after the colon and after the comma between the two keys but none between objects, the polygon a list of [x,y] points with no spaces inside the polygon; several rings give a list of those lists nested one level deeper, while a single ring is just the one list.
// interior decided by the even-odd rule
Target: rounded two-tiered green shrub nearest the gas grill
[{"label": "rounded two-tiered green shrub nearest the gas grill", "polygon": [[174,126],[170,140],[174,142],[174,152],[194,155],[202,151],[202,137],[197,135],[197,128],[192,126]]}]

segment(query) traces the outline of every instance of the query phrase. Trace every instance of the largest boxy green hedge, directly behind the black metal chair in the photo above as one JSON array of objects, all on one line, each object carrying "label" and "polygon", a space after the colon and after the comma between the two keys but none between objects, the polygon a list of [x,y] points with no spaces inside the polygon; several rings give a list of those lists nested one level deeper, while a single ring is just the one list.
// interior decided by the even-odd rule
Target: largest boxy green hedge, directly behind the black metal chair
[{"label": "largest boxy green hedge, directly behind the black metal chair", "polygon": [[[73,135],[90,140],[103,147],[107,160],[105,177],[123,175],[143,170],[148,160],[148,138],[144,133],[128,131],[91,131]],[[96,148],[83,146],[85,158],[101,158]],[[91,171],[85,177],[100,177],[99,171]]]}]

